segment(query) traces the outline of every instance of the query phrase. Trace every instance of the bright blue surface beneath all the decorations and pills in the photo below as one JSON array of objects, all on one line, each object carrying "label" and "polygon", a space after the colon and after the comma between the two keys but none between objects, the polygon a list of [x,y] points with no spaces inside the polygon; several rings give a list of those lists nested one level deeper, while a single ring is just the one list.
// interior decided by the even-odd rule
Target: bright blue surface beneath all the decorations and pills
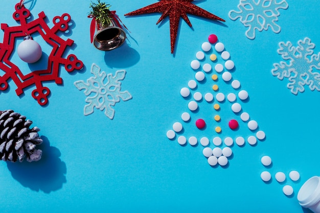
[{"label": "bright blue surface beneath all the decorations and pills", "polygon": [[[12,18],[17,2],[2,4],[2,23],[17,25]],[[131,33],[121,48],[101,52],[89,41],[90,1],[26,1],[25,6],[34,18],[45,12],[50,27],[54,16],[71,15],[71,32],[61,37],[75,41],[67,54],[75,54],[83,61],[84,68],[71,74],[61,68],[63,85],[45,83],[52,95],[44,107],[31,97],[34,87],[17,97],[16,86],[10,81],[10,89],[0,94],[0,108],[26,115],[33,121],[32,126],[41,129],[39,134],[44,139],[39,146],[43,150],[40,161],[0,163],[1,212],[309,212],[299,205],[296,194],[308,178],[320,175],[317,109],[320,93],[306,87],[305,92],[295,96],[286,88],[285,80],[271,75],[271,69],[273,63],[282,61],[277,54],[280,41],[291,41],[296,46],[298,40],[309,37],[316,45],[320,43],[318,1],[288,0],[289,8],[280,10],[278,24],[282,31],[279,34],[263,31],[254,40],[245,37],[246,28],[239,20],[228,18],[230,10],[237,10],[238,0],[195,1],[197,6],[226,21],[219,23],[189,15],[193,25],[189,28],[180,20],[173,55],[168,18],[155,25],[161,14],[123,16],[155,2],[108,1]],[[249,93],[249,101],[241,102],[243,109],[267,135],[257,146],[235,145],[234,154],[224,168],[210,167],[200,144],[181,147],[176,139],[166,137],[174,122],[183,123],[180,115],[188,111],[188,101],[179,91],[194,79],[190,62],[200,51],[202,42],[213,33],[235,62],[233,78]],[[40,36],[34,39],[49,55],[51,46],[41,41]],[[315,53],[319,51],[316,46]],[[32,68],[16,53],[11,61],[25,74]],[[83,115],[86,97],[73,83],[93,76],[92,63],[106,73],[127,71],[122,90],[128,90],[133,98],[116,104],[113,120],[97,109],[93,114]],[[205,84],[199,85],[199,91],[212,91],[211,75],[207,75]],[[222,92],[233,91],[221,78],[218,84]],[[250,131],[230,106],[227,101],[221,104],[220,136],[246,138]],[[213,148],[212,138],[217,133],[212,117],[216,112],[205,101],[199,107],[198,112],[191,113],[192,121],[183,123],[183,134],[187,138],[207,136]],[[194,126],[200,117],[205,117],[208,123],[203,131]],[[230,119],[239,121],[239,130],[228,129]],[[263,155],[272,158],[271,168],[261,164]],[[264,170],[273,176],[267,184],[260,178]],[[300,172],[300,181],[289,180],[291,170]],[[293,196],[282,193],[283,184],[274,178],[278,171],[287,175],[286,183],[293,186]]]}]

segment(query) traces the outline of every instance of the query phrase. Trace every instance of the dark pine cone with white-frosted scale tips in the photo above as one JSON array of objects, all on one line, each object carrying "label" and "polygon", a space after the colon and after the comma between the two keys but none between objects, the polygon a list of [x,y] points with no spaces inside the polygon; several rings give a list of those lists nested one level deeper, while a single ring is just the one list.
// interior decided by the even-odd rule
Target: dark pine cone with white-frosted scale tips
[{"label": "dark pine cone with white-frosted scale tips", "polygon": [[30,129],[32,121],[13,110],[0,111],[0,160],[22,162],[27,156],[27,161],[41,159],[42,151],[36,145],[42,143],[38,135],[40,129]]}]

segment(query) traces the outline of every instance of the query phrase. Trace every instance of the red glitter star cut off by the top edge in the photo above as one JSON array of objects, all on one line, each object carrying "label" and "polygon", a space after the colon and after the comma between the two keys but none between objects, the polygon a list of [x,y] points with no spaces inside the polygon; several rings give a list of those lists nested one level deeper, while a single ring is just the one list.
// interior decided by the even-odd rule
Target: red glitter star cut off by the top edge
[{"label": "red glitter star cut off by the top edge", "polygon": [[143,7],[125,15],[141,15],[155,12],[162,13],[162,16],[159,18],[156,24],[158,24],[160,21],[162,21],[165,17],[169,15],[171,53],[173,53],[179,27],[180,16],[188,23],[190,27],[192,27],[192,25],[187,16],[187,13],[202,16],[204,18],[225,21],[222,18],[219,18],[218,16],[208,12],[207,10],[199,8],[191,2],[193,2],[193,0],[160,0],[160,2]]}]

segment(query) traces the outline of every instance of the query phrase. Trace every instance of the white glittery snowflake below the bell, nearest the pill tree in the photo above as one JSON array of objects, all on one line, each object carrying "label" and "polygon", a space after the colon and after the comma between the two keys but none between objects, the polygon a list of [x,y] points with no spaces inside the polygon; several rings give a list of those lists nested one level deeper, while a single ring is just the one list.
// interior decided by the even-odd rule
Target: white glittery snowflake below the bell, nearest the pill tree
[{"label": "white glittery snowflake below the bell, nearest the pill tree", "polygon": [[87,96],[85,102],[88,104],[84,106],[84,115],[93,113],[96,107],[101,111],[105,109],[104,114],[113,119],[115,110],[111,106],[115,106],[120,99],[128,101],[132,98],[128,91],[121,91],[120,81],[125,78],[126,70],[118,70],[115,76],[106,75],[105,72],[100,72],[98,65],[92,64],[91,73],[95,77],[90,77],[87,82],[80,80],[74,83],[79,90],[85,89],[84,94]]}]

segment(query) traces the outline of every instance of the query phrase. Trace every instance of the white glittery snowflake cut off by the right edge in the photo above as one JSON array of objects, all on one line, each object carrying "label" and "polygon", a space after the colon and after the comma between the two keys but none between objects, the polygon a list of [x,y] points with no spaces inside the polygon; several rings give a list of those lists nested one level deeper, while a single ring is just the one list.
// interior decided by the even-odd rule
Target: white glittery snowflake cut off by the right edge
[{"label": "white glittery snowflake cut off by the right edge", "polygon": [[279,47],[277,52],[285,61],[273,64],[272,75],[280,80],[288,78],[287,87],[293,94],[303,92],[305,85],[311,91],[320,91],[320,53],[313,54],[315,44],[311,39],[299,40],[296,47],[290,41],[280,42]]}]

